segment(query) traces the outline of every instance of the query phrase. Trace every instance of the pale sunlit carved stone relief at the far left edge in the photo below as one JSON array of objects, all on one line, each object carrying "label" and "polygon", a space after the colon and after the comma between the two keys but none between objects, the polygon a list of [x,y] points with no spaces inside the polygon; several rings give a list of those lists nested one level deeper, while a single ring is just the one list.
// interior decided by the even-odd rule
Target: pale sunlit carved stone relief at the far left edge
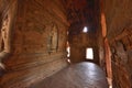
[{"label": "pale sunlit carved stone relief at the far left edge", "polygon": [[6,15],[2,22],[2,28],[0,32],[0,67],[4,68],[2,59],[10,53],[10,43],[9,43],[9,16]]}]

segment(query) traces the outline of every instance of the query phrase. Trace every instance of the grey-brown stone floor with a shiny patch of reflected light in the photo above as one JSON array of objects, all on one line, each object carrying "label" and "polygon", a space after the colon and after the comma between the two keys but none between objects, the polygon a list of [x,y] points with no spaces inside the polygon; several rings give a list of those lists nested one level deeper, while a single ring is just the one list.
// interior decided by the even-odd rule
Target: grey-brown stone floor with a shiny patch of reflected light
[{"label": "grey-brown stone floor with a shiny patch of reflected light", "polygon": [[105,73],[92,63],[70,65],[30,88],[109,88]]}]

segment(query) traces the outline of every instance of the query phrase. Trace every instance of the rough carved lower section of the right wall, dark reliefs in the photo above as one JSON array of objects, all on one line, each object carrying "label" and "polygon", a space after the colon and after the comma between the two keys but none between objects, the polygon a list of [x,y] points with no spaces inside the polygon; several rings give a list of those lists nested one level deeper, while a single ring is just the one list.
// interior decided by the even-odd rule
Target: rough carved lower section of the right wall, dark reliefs
[{"label": "rough carved lower section of the right wall, dark reliefs", "polygon": [[112,51],[112,72],[113,72],[113,87],[131,88],[132,87],[132,30],[125,29],[111,42]]}]

